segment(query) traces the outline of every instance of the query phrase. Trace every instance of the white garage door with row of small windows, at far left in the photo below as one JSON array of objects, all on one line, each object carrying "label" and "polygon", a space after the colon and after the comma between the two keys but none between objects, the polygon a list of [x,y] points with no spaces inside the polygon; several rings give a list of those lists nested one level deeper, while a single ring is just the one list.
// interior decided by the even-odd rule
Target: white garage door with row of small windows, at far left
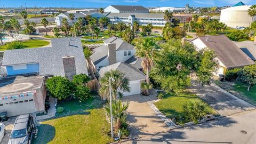
[{"label": "white garage door with row of small windows, at far left", "polygon": [[7,116],[35,113],[33,93],[1,97],[0,112],[7,111]]}]

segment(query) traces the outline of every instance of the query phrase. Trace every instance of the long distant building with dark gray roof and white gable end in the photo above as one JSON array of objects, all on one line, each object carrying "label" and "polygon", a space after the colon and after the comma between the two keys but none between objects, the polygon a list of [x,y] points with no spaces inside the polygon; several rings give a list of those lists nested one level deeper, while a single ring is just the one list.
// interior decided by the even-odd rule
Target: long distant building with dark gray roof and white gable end
[{"label": "long distant building with dark gray roof and white gable end", "polygon": [[109,5],[104,12],[111,13],[149,13],[148,9],[140,5]]}]

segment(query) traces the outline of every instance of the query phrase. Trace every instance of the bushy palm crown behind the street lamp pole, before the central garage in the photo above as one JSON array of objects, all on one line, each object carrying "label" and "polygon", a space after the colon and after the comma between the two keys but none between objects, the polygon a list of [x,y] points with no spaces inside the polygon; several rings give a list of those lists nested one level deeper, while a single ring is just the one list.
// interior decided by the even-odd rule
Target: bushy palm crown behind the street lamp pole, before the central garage
[{"label": "bushy palm crown behind the street lamp pole, before the central garage", "polygon": [[102,99],[109,99],[109,77],[115,79],[115,82],[111,81],[111,94],[115,100],[117,97],[122,98],[122,92],[130,92],[129,80],[125,78],[125,74],[119,70],[110,70],[100,78],[99,94]]}]

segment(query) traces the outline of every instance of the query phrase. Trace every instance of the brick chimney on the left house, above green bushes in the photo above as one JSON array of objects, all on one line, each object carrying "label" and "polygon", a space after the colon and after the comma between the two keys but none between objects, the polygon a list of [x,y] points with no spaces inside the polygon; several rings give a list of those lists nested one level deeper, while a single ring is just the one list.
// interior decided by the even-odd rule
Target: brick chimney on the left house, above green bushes
[{"label": "brick chimney on the left house, above green bushes", "polygon": [[73,80],[73,76],[76,75],[76,62],[74,56],[62,57],[65,77],[70,81]]}]

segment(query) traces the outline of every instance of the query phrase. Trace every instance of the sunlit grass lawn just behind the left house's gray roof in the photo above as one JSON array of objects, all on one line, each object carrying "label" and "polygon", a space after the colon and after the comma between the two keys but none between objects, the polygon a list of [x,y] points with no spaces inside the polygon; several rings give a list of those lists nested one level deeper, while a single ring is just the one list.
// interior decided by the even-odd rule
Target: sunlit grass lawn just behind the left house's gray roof
[{"label": "sunlit grass lawn just behind the left house's gray roof", "polygon": [[[26,48],[37,48],[37,47],[42,47],[42,46],[46,46],[49,45],[50,43],[47,41],[43,41],[43,40],[38,40],[38,39],[33,39],[33,40],[29,40],[29,41],[24,41],[24,42],[20,42],[23,45],[26,46]],[[0,51],[5,51],[5,46],[0,46]]]}]

